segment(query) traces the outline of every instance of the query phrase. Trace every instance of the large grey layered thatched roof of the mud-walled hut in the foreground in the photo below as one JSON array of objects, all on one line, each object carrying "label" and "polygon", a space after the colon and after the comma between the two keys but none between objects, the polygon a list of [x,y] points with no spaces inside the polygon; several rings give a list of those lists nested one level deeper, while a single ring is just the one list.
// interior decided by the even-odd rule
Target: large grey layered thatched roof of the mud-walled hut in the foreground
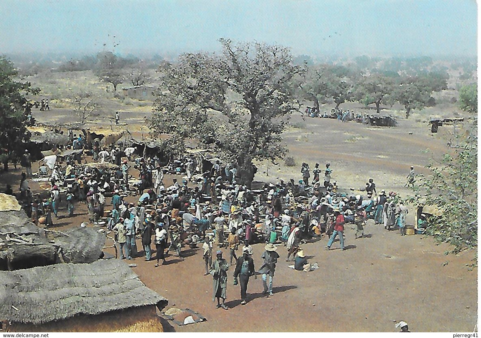
[{"label": "large grey layered thatched roof of the mud-walled hut in the foreground", "polygon": [[157,304],[165,307],[167,299],[119,260],[0,272],[0,318],[14,323],[41,324]]}]

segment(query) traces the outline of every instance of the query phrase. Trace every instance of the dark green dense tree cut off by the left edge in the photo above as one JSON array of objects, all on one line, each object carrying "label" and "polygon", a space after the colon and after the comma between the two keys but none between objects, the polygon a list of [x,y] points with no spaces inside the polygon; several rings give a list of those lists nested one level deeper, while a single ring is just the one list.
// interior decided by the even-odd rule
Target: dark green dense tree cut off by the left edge
[{"label": "dark green dense tree cut off by the left edge", "polygon": [[25,121],[32,105],[25,95],[38,94],[30,82],[18,79],[18,71],[7,58],[0,56],[0,161],[8,169],[8,160],[22,155],[29,133]]}]

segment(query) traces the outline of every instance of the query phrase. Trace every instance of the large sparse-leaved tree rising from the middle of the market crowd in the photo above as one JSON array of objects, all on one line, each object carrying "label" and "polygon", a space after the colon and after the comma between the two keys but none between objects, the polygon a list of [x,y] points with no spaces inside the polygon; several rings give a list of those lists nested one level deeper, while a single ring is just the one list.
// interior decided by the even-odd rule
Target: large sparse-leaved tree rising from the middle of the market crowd
[{"label": "large sparse-leaved tree rising from the middle of the market crowd", "polygon": [[161,85],[150,120],[154,134],[194,137],[236,164],[250,185],[252,161],[284,156],[281,133],[292,111],[294,65],[289,49],[220,39],[220,55],[188,53],[161,65]]}]

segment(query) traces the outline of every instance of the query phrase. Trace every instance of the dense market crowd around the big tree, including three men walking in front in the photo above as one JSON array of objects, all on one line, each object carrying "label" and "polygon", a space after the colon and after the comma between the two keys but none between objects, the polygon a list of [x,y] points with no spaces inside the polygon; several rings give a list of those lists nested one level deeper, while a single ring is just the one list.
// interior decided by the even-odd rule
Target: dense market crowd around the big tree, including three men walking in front
[{"label": "dense market crowd around the big tree, including three men walking in front", "polygon": [[[86,149],[82,136],[72,139],[73,149]],[[170,251],[183,260],[184,247],[202,244],[205,275],[213,277],[218,308],[228,309],[225,300],[230,266],[235,266],[231,270],[234,284],[241,286],[241,304],[248,301],[249,278],[258,274],[262,275],[263,293],[273,294],[279,245],[287,248],[285,259],[294,262],[295,270],[311,271],[313,266],[301,246],[327,236],[326,250],[330,250],[339,237],[340,248],[345,250],[346,224],[355,226],[355,239],[364,237],[368,219],[388,230],[399,228],[404,235],[407,208],[396,193],[381,190],[378,194],[372,178],[362,189],[366,195],[342,192],[332,180],[329,163],[324,169],[315,164],[312,182],[309,164],[303,163],[298,182],[291,178],[287,183],[279,180],[250,189],[237,183],[238,172],[232,164],[217,160],[210,170],[201,172],[201,166],[188,156],[163,166],[158,156],[132,156],[129,161],[122,156],[124,150],[101,147],[94,140],[89,149],[94,162],[85,163],[85,157],[73,153],[63,163],[56,163],[50,174],[50,195],[43,199],[26,193],[28,179],[23,173],[20,191],[24,205],[29,206],[27,213],[35,224],[49,227],[53,217],[59,218],[63,196],[67,204],[64,217],[74,216],[76,204],[86,203],[89,222],[102,225],[101,220],[105,220],[107,230],[114,232],[118,259],[145,257],[155,261],[154,268],[167,262]],[[139,172],[137,177],[131,174],[132,166]],[[167,184],[167,173],[179,176],[171,176],[172,182]],[[413,176],[411,171],[408,180]],[[127,202],[127,196],[139,199]],[[108,211],[107,199],[111,199],[112,208]],[[136,239],[142,245],[140,250]],[[255,243],[265,245],[260,260],[253,257]],[[228,252],[226,258],[223,248]]]}]

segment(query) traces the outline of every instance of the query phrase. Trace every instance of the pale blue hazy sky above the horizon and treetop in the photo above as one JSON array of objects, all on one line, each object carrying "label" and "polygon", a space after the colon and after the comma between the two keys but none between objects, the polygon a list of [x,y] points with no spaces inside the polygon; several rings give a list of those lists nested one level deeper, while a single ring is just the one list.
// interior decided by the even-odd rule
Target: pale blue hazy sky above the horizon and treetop
[{"label": "pale blue hazy sky above the horizon and treetop", "polygon": [[294,54],[477,53],[474,0],[1,0],[0,15],[0,54],[213,51],[221,37]]}]

